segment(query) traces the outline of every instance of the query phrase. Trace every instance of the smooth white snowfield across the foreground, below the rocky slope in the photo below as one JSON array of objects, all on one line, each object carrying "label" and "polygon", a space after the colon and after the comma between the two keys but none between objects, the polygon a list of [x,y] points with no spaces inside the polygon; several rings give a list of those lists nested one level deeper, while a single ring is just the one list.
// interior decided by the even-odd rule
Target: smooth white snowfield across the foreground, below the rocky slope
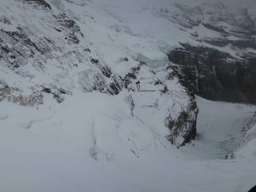
[{"label": "smooth white snowfield across the foreground, below the rocky slope", "polygon": [[[179,150],[165,130],[143,121],[147,113],[132,117],[122,96],[76,93],[38,109],[1,102],[1,191],[238,192],[253,186],[255,139],[228,160],[218,144],[255,107],[198,98],[200,137]],[[229,121],[223,113],[232,113]]]}]

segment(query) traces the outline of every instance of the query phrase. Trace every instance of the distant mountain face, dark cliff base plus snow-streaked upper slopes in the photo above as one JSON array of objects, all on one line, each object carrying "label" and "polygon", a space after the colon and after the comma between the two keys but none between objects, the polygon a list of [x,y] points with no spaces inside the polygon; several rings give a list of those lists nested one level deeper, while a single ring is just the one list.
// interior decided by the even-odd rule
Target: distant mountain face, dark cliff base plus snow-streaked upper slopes
[{"label": "distant mountain face, dark cliff base plus snow-streaked upper slopes", "polygon": [[179,64],[181,81],[207,99],[256,103],[256,27],[247,9],[228,9],[222,3],[189,8],[176,5],[166,18],[183,26],[200,44],[181,44],[170,52]]}]

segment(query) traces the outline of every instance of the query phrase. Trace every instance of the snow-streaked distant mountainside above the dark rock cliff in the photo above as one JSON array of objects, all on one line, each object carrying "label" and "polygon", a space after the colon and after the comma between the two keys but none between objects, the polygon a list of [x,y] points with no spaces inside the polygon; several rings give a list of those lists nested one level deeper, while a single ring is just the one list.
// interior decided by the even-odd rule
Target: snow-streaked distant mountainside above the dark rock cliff
[{"label": "snow-streaked distant mountainside above the dark rock cliff", "polygon": [[183,26],[191,38],[223,48],[255,49],[255,18],[247,9],[229,9],[223,3],[207,3],[190,8],[175,4],[172,9],[160,9],[160,15]]}]

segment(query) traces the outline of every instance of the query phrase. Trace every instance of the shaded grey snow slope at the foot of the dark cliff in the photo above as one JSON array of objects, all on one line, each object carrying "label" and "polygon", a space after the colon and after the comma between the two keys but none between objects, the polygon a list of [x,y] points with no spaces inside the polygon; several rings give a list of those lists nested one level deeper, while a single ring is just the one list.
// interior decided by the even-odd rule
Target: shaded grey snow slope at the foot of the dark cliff
[{"label": "shaded grey snow slope at the foot of the dark cliff", "polygon": [[[224,159],[255,138],[255,106],[228,102],[212,102],[197,97],[200,113],[197,119],[197,139],[182,148],[187,154],[203,159]],[[243,129],[241,129],[243,127]]]}]

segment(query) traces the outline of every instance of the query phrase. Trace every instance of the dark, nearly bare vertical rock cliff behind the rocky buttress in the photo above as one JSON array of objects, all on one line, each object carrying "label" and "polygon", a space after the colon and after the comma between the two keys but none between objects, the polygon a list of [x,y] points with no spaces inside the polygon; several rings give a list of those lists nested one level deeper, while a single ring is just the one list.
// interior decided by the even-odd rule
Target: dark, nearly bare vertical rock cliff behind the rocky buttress
[{"label": "dark, nearly bare vertical rock cliff behind the rocky buttress", "polygon": [[190,94],[210,100],[256,103],[256,56],[237,59],[217,49],[192,47],[174,49],[169,60]]}]

